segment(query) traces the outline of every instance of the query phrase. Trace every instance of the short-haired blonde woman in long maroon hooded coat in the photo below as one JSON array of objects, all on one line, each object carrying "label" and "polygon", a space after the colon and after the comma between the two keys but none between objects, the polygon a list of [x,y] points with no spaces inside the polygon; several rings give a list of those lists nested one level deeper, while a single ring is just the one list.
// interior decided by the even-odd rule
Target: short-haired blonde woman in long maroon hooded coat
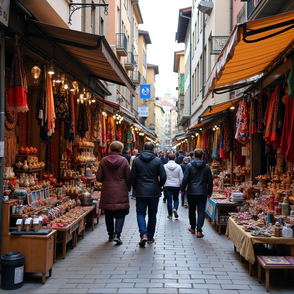
[{"label": "short-haired blonde woman in long maroon hooded coat", "polygon": [[[102,183],[99,208],[105,211],[106,229],[109,241],[122,244],[120,239],[125,216],[129,213],[129,194],[131,191],[131,169],[122,155],[123,144],[114,141],[110,153],[101,159],[96,179]],[[115,226],[113,218],[115,218]]]}]

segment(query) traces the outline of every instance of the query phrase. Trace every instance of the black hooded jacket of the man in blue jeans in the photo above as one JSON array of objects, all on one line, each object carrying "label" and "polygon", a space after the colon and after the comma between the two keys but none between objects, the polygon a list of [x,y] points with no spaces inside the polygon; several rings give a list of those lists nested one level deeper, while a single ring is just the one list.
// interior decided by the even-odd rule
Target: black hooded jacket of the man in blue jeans
[{"label": "black hooded jacket of the man in blue jeans", "polygon": [[[159,178],[159,179],[158,179]],[[166,182],[166,172],[154,152],[143,150],[133,160],[131,179],[137,197],[161,197],[160,188]]]}]

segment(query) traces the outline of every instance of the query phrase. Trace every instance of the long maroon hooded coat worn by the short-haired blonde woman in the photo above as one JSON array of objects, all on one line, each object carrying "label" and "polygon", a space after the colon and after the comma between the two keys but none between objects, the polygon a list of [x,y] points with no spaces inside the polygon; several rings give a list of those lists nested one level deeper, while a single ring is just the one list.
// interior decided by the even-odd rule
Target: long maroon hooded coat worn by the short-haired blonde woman
[{"label": "long maroon hooded coat worn by the short-haired blonde woman", "polygon": [[121,210],[130,208],[131,170],[120,152],[112,151],[99,163],[96,180],[102,183],[99,208]]}]

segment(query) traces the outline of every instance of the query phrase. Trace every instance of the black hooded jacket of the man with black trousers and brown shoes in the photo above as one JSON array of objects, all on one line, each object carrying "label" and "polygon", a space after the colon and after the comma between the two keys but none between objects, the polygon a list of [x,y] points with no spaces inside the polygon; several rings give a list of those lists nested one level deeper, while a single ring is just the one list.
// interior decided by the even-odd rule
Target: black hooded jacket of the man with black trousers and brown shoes
[{"label": "black hooded jacket of the man with black trousers and brown shoes", "polygon": [[213,181],[211,169],[204,160],[195,158],[192,162],[187,164],[181,185],[181,191],[185,191],[187,185],[187,194],[212,194]]}]

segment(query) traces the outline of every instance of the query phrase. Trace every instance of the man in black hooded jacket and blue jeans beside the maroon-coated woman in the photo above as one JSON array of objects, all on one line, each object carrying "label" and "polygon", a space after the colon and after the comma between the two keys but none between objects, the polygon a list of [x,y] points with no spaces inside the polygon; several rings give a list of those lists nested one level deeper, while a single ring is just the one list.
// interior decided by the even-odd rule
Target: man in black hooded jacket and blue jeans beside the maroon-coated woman
[{"label": "man in black hooded jacket and blue jeans beside the maroon-coated woman", "polygon": [[[166,172],[160,158],[154,154],[155,145],[152,142],[144,144],[144,150],[133,160],[131,179],[136,191],[137,222],[141,240],[139,246],[153,243],[156,227],[156,214],[161,187],[166,182]],[[159,177],[159,180],[158,180]],[[146,212],[148,208],[148,225],[146,226]]]}]

